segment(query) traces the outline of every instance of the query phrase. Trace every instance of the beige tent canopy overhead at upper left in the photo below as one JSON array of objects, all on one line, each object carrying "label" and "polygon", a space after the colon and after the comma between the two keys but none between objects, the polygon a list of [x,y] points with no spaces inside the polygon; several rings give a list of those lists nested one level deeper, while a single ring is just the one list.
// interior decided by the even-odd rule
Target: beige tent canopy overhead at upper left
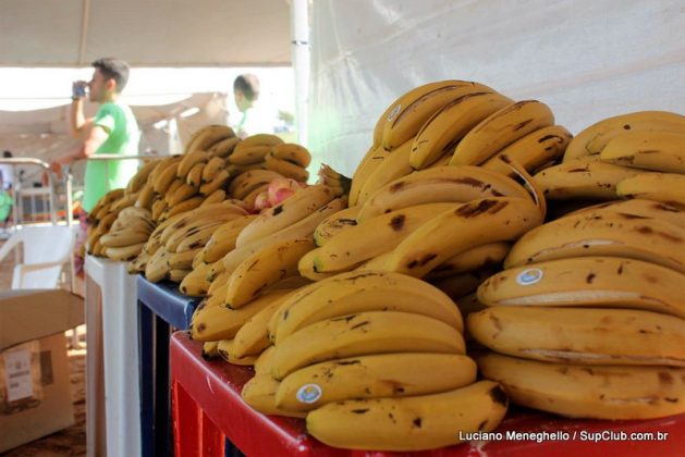
[{"label": "beige tent canopy overhead at upper left", "polygon": [[0,66],[290,65],[285,0],[4,0]]}]

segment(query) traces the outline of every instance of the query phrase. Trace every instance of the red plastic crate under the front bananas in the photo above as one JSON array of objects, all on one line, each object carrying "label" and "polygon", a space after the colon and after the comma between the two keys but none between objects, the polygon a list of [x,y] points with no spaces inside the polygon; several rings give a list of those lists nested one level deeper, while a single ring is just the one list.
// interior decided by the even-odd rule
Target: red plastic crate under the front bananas
[{"label": "red plastic crate under the front bananas", "polygon": [[[647,421],[571,420],[528,409],[512,408],[499,432],[565,432],[566,441],[470,442],[420,453],[346,450],[327,446],[307,434],[302,419],[264,416],[241,398],[252,368],[200,356],[201,343],[185,332],[171,337],[171,378],[175,455],[223,456],[224,437],[248,456],[682,456],[685,449],[685,415]],[[664,441],[583,441],[580,433],[668,433]],[[575,434],[575,439],[574,439]]]}]

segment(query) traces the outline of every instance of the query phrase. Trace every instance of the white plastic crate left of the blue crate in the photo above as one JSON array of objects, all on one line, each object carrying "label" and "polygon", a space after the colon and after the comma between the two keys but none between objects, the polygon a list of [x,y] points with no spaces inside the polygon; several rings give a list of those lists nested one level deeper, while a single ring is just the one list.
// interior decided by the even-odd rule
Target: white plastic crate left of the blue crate
[{"label": "white plastic crate left of the blue crate", "polygon": [[140,455],[136,277],[86,257],[86,444],[89,455]]}]

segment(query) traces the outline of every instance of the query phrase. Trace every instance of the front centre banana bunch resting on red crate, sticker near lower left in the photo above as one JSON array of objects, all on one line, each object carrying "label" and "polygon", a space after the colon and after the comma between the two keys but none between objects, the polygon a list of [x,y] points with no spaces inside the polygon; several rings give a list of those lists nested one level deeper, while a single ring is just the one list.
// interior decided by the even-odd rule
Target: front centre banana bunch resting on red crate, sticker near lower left
[{"label": "front centre banana bunch resting on red crate, sticker near lower left", "polygon": [[493,430],[506,411],[496,383],[476,382],[462,330],[429,284],[351,272],[264,308],[232,350],[257,357],[242,394],[255,409],[306,415],[309,433],[332,446],[429,449],[458,443],[455,430]]}]

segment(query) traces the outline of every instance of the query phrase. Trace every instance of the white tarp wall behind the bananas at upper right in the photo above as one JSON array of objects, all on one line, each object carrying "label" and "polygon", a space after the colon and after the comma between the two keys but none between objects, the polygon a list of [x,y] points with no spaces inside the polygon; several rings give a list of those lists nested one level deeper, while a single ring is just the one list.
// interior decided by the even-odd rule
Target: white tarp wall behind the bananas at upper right
[{"label": "white tarp wall behind the bananas at upper right", "polygon": [[550,104],[573,133],[685,107],[682,0],[317,0],[309,141],[351,174],[383,110],[431,81],[477,81]]}]

